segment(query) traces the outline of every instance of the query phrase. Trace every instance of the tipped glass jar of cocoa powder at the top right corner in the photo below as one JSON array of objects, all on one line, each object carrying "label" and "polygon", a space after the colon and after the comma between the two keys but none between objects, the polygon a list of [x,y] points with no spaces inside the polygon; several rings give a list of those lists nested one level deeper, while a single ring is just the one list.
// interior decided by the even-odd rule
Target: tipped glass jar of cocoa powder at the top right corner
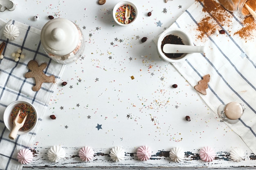
[{"label": "tipped glass jar of cocoa powder at the top right corner", "polygon": [[244,7],[245,3],[254,11],[256,10],[255,0],[218,0],[218,2],[228,11],[238,11],[244,16],[250,15],[249,11]]}]

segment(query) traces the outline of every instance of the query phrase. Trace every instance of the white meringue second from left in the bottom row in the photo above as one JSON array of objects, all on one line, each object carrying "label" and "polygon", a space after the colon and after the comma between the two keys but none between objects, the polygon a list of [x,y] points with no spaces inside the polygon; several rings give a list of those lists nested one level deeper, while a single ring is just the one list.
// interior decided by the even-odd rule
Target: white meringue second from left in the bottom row
[{"label": "white meringue second from left in the bottom row", "polygon": [[65,155],[65,150],[61,146],[52,146],[47,153],[48,159],[53,162],[65,158]]}]

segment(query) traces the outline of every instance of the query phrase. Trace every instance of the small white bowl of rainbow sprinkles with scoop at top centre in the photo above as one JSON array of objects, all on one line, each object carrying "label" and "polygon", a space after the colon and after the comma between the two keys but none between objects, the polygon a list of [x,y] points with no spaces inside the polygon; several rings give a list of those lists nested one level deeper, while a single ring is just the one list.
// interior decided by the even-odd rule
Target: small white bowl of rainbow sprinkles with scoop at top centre
[{"label": "small white bowl of rainbow sprinkles with scoop at top centre", "polygon": [[117,24],[128,26],[137,18],[137,7],[129,1],[118,2],[113,9],[113,18]]}]

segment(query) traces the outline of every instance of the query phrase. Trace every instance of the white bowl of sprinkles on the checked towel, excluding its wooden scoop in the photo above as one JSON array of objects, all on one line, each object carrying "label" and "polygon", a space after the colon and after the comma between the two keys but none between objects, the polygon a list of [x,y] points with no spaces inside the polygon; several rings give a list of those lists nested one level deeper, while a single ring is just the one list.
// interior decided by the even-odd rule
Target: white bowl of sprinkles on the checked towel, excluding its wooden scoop
[{"label": "white bowl of sprinkles on the checked towel, excluding its wooden scoop", "polygon": [[4,124],[8,130],[12,130],[13,128],[13,121],[16,118],[19,110],[20,112],[20,118],[24,119],[26,115],[27,119],[24,123],[24,125],[18,130],[18,135],[24,135],[29,133],[37,123],[37,111],[36,108],[26,101],[15,101],[12,102],[7,106],[7,108],[4,110]]}]

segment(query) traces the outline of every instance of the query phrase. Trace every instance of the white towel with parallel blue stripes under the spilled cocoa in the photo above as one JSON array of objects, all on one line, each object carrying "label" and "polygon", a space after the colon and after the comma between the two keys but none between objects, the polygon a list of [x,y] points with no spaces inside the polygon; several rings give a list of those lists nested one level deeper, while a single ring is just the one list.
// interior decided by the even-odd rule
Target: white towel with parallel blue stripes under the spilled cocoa
[{"label": "white towel with parallel blue stripes under the spilled cocoa", "polygon": [[210,74],[207,95],[199,95],[216,116],[221,104],[245,105],[238,121],[225,123],[256,154],[256,20],[226,11],[215,0],[196,0],[171,27],[190,33],[196,46],[207,46],[205,54],[193,53],[173,66],[192,87]]}]

